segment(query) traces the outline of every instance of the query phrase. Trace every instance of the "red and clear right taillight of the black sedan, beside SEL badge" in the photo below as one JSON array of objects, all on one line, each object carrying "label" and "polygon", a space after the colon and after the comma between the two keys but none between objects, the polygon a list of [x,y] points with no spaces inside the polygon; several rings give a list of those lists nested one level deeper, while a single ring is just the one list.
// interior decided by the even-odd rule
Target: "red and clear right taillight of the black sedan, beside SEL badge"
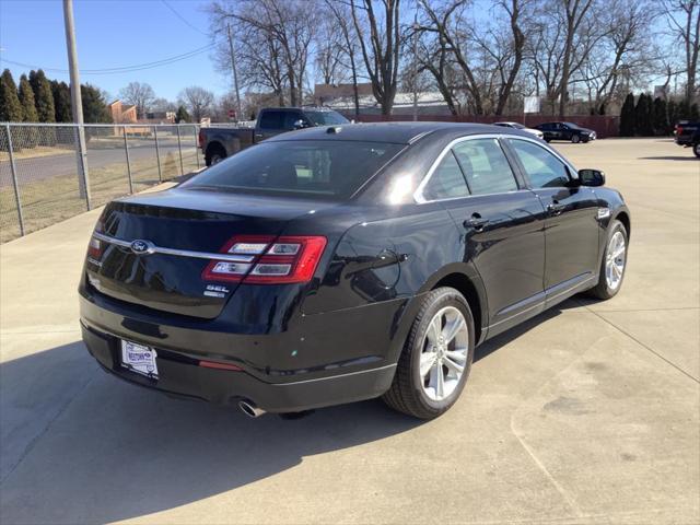
[{"label": "red and clear right taillight of the black sedan, beside SEL badge", "polygon": [[256,284],[308,282],[326,247],[322,236],[236,235],[221,249],[224,254],[252,257],[249,261],[212,260],[202,272],[207,281]]}]

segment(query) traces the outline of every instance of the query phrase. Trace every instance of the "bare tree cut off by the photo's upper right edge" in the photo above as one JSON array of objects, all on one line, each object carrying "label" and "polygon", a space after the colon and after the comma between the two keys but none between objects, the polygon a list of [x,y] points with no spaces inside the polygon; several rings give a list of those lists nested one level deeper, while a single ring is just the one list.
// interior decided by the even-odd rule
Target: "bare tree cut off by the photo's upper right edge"
[{"label": "bare tree cut off by the photo's upper right edge", "polygon": [[697,91],[700,54],[700,0],[663,0],[663,7],[672,34],[684,47],[686,98],[691,103]]}]

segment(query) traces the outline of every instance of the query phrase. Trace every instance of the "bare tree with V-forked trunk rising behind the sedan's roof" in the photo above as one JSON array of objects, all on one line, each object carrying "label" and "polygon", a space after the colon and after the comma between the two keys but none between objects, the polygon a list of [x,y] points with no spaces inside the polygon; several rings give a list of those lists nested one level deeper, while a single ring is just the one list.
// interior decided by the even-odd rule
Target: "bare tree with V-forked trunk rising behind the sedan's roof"
[{"label": "bare tree with V-forked trunk rising behind the sedan's roof", "polygon": [[352,23],[372,92],[382,115],[390,115],[401,55],[400,0],[382,0],[382,5],[384,9],[377,13],[373,0],[350,0]]}]

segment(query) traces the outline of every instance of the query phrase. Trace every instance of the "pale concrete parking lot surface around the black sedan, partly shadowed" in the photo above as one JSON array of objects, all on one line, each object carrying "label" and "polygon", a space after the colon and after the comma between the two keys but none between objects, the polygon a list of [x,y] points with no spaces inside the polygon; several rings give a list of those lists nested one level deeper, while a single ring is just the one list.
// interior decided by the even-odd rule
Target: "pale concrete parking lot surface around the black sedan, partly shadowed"
[{"label": "pale concrete parking lot surface around the black sedan, partly shadowed", "polygon": [[0,248],[0,522],[700,522],[700,162],[669,140],[555,144],[632,212],[611,301],[477,350],[455,407],[247,419],[98,370],[77,281],[98,211]]}]

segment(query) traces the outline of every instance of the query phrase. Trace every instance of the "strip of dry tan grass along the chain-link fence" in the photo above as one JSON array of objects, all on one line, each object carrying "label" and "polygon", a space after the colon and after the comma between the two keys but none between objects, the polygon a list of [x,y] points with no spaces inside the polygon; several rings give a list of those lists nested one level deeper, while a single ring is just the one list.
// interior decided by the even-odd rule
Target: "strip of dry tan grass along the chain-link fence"
[{"label": "strip of dry tan grass along the chain-link fence", "polygon": [[[197,168],[194,151],[183,152],[184,173]],[[179,156],[168,153],[161,163],[163,180],[182,174]],[[159,184],[155,160],[139,160],[131,163],[133,191],[141,191]],[[90,171],[92,208],[129,194],[129,178],[125,163],[109,164]],[[77,174],[61,175],[20,187],[20,199],[25,233],[49,226],[86,211],[85,198],[80,196]],[[20,236],[18,210],[12,186],[0,187],[0,243]]]}]

